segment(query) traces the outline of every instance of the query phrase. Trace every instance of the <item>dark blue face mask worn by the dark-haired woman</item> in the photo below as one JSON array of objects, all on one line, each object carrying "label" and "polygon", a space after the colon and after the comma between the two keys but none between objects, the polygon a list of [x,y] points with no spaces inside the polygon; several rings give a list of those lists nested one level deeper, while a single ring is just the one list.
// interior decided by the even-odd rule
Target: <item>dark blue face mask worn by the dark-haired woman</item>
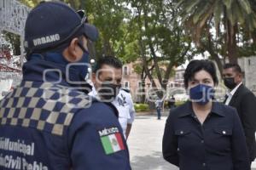
[{"label": "dark blue face mask worn by the dark-haired woman", "polygon": [[199,104],[207,105],[207,103],[214,97],[214,89],[211,86],[198,84],[189,90],[190,99]]}]

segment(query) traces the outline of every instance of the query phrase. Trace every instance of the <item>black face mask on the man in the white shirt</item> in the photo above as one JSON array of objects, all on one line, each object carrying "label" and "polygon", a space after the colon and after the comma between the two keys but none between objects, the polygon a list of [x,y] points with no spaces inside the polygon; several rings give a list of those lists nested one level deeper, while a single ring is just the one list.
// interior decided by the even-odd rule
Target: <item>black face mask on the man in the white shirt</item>
[{"label": "black face mask on the man in the white shirt", "polygon": [[115,97],[119,94],[121,85],[113,83],[103,82],[102,87],[98,89],[98,94],[101,96],[102,101],[112,102]]}]

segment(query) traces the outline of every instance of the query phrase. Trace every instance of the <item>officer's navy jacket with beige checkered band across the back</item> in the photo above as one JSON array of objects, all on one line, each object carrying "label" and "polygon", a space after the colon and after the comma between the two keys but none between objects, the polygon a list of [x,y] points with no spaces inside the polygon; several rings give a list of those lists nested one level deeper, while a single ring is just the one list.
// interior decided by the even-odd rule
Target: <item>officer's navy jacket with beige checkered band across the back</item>
[{"label": "officer's navy jacket with beige checkered band across the back", "polygon": [[[109,105],[91,102],[78,85],[67,83],[62,65],[32,59],[23,76],[0,102],[1,170],[131,169]],[[70,77],[79,81],[75,71]]]}]

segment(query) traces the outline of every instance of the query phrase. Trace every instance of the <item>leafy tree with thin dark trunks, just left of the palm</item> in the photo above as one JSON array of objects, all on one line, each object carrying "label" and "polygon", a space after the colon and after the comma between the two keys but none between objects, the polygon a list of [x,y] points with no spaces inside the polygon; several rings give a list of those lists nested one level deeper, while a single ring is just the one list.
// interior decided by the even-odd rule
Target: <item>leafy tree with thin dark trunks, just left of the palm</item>
[{"label": "leafy tree with thin dark trunks, just left of the palm", "polygon": [[[138,34],[139,56],[143,63],[143,71],[156,88],[152,72],[156,74],[161,88],[166,89],[172,68],[181,65],[185,59],[192,58],[194,50],[191,40],[181,29],[177,20],[170,22],[177,10],[172,3],[164,1],[131,1],[133,12],[136,13],[136,26]],[[148,63],[151,68],[148,68]],[[165,71],[162,65],[165,64]],[[149,71],[152,69],[153,71]]]}]

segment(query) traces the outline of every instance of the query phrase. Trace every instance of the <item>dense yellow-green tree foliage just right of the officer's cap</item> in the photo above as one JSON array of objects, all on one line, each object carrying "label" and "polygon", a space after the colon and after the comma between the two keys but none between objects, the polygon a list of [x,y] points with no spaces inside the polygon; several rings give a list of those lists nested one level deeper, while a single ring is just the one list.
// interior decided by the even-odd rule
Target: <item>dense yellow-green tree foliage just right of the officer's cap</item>
[{"label": "dense yellow-green tree foliage just right of the officer's cap", "polygon": [[[83,5],[82,5],[83,7]],[[100,31],[100,39],[96,42],[96,56],[125,55],[125,34],[130,20],[130,9],[125,1],[88,0],[84,2],[89,20]]]}]

